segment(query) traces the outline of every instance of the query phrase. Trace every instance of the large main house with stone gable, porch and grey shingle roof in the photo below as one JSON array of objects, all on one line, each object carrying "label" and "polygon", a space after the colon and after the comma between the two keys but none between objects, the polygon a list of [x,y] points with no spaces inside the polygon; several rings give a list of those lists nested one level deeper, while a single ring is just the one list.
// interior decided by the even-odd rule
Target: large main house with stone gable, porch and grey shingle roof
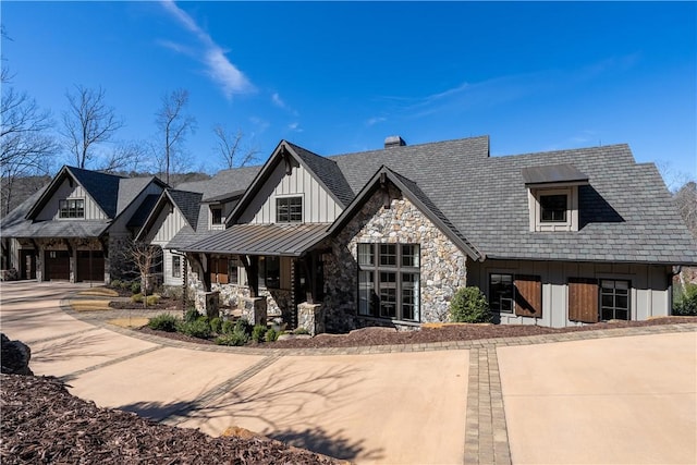
[{"label": "large main house with stone gable, porch and grey shingle roof", "polygon": [[310,332],[443,321],[465,285],[504,323],[643,320],[670,315],[674,267],[697,265],[626,145],[490,157],[486,136],[389,137],[322,157],[282,140],[217,178],[163,192],[138,233],[168,250],[166,283]]}]

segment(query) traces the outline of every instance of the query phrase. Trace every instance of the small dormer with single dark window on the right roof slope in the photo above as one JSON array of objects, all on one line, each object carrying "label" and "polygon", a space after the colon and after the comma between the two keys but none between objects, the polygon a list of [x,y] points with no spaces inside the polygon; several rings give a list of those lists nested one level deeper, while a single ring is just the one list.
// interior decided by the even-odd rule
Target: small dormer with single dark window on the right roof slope
[{"label": "small dormer with single dark window on the right roof slope", "polygon": [[521,170],[527,188],[533,232],[578,231],[578,186],[588,176],[573,164],[548,164]]}]

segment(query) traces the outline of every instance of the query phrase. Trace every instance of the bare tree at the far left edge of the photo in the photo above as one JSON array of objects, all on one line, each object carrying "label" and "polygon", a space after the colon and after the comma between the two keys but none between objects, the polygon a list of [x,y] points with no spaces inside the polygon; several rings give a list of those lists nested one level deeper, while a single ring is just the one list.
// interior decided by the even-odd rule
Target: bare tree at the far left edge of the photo
[{"label": "bare tree at the far left edge of the photo", "polygon": [[[5,84],[5,83],[3,83]],[[0,174],[2,175],[2,213],[13,205],[13,188],[21,176],[47,174],[50,158],[59,149],[50,135],[52,121],[36,100],[11,86],[3,86],[0,102]]]}]

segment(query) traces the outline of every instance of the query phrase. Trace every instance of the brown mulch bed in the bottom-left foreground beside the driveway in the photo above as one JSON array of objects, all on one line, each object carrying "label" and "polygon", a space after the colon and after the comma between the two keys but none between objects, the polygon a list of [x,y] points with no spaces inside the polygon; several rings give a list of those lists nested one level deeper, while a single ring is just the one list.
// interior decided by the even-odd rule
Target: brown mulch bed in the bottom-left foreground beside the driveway
[{"label": "brown mulch bed in the bottom-left foreground beside the driveway", "polygon": [[56,378],[0,375],[3,464],[338,464],[261,437],[212,438],[99,408]]}]

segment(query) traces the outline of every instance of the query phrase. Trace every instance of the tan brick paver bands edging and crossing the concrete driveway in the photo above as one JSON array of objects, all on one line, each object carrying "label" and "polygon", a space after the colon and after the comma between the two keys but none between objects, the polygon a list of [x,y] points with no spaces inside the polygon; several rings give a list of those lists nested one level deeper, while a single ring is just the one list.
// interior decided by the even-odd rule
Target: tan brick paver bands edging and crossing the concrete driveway
[{"label": "tan brick paver bands edging and crossing the concrete driveway", "polygon": [[[163,346],[191,348],[192,343],[161,338],[125,328],[109,325],[108,320],[117,318],[151,317],[152,313],[138,310],[99,310],[93,313],[75,311],[70,305],[70,298],[61,301],[63,311],[76,319],[105,327],[112,331],[146,340]],[[386,354],[394,352],[426,352],[426,351],[469,351],[469,376],[467,381],[467,413],[465,418],[464,463],[465,464],[511,464],[509,433],[503,408],[503,392],[497,356],[498,346],[516,346],[533,344],[550,344],[555,342],[582,341],[589,339],[624,338],[643,334],[664,334],[674,332],[697,331],[697,323],[656,325],[648,327],[613,328],[590,331],[574,331],[555,334],[539,334],[515,338],[493,338],[472,341],[448,341],[429,344],[375,345],[365,347],[325,347],[325,348],[253,348],[230,347],[222,345],[199,344],[196,350],[204,352],[228,352],[247,355],[266,355],[259,363],[253,365],[237,376],[213,387],[197,401],[197,407],[203,407],[216,399],[224,395],[234,387],[241,384],[259,371],[286,355],[353,355],[353,354]],[[137,355],[137,354],[134,354]],[[127,356],[126,356],[127,357]],[[126,358],[124,357],[124,358]],[[119,359],[121,362],[121,359]],[[185,417],[173,413],[164,421],[178,424]]]}]

